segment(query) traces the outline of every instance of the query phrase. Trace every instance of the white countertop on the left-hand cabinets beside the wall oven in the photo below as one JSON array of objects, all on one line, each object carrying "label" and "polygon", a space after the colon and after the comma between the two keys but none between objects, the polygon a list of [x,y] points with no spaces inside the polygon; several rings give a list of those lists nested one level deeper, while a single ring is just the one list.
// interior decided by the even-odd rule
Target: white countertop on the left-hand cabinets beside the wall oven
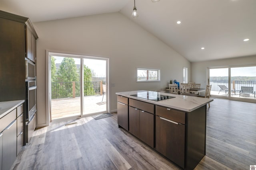
[{"label": "white countertop on the left-hand cabinets beside the wall oven", "polygon": [[0,119],[8,114],[10,111],[15,109],[16,107],[20,106],[24,103],[25,100],[14,100],[8,102],[0,102]]}]

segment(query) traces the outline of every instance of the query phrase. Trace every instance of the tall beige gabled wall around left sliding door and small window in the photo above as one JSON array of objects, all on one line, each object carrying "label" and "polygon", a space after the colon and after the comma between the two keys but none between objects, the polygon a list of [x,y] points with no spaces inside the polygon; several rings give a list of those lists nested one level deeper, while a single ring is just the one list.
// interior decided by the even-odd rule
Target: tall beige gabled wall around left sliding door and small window
[{"label": "tall beige gabled wall around left sliding door and small window", "polygon": [[[34,23],[37,40],[38,127],[46,124],[46,49],[110,59],[110,110],[116,92],[160,90],[182,82],[190,62],[122,14],[110,13]],[[136,67],[159,68],[161,82],[136,83]],[[190,80],[190,77],[188,78]]]}]

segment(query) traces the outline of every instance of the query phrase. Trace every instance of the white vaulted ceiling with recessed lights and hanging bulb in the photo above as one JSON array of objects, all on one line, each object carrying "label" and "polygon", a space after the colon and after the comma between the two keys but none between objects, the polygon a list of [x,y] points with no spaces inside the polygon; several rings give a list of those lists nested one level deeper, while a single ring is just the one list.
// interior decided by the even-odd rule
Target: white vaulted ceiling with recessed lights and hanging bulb
[{"label": "white vaulted ceiling with recessed lights and hanging bulb", "polygon": [[133,6],[134,0],[0,0],[0,10],[32,22],[120,12],[191,62],[256,55],[256,0],[136,0],[138,18],[131,17]]}]

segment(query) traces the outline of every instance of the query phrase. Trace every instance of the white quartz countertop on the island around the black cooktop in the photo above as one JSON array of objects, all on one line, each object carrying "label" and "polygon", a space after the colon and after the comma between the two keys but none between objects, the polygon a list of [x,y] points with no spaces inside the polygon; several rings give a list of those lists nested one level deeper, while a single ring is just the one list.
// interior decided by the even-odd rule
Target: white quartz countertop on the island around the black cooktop
[{"label": "white quartz countertop on the island around the black cooktop", "polygon": [[138,91],[130,91],[130,92],[116,92],[116,94],[127,97],[127,98],[136,99],[143,102],[156,104],[159,106],[170,107],[173,109],[178,109],[186,112],[190,112],[195,109],[198,109],[199,107],[202,107],[213,101],[213,99],[208,99],[208,98],[199,98],[199,97],[193,97],[193,96],[184,96],[184,95],[162,93],[162,92],[157,92],[157,93],[165,96],[174,96],[175,98],[160,100],[160,101],[152,101],[152,100],[146,100],[146,99],[130,96],[133,94],[137,94],[138,92],[147,92],[147,91],[138,90]]}]

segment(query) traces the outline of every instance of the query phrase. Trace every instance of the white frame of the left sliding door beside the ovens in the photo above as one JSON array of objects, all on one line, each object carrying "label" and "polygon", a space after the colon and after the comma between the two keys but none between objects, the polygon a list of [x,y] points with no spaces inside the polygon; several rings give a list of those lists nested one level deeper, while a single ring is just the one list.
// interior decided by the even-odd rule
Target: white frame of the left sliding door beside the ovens
[{"label": "white frame of the left sliding door beside the ovens", "polygon": [[[49,68],[51,68],[51,60],[50,60],[50,55],[52,54],[57,54],[60,57],[74,57],[74,58],[80,58],[80,65],[83,64],[83,59],[100,59],[100,60],[105,60],[106,61],[106,112],[110,113],[110,88],[109,88],[109,63],[110,63],[110,59],[106,58],[106,57],[93,57],[93,56],[89,56],[89,55],[84,55],[84,54],[75,54],[75,53],[68,53],[68,52],[63,52],[63,51],[52,51],[52,50],[46,50],[46,126],[48,126],[52,121],[51,121],[51,115],[50,115],[50,109],[51,109],[51,95],[50,95],[50,91],[51,91],[51,86],[50,86],[50,78],[51,78],[51,72],[49,70]],[[83,80],[83,72],[82,72],[82,66],[80,67],[80,80]],[[83,95],[84,92],[84,87],[81,84],[81,88],[80,88],[80,93]],[[95,115],[95,114],[99,114],[99,113],[92,113],[92,114],[88,114],[88,115],[83,115],[83,103],[84,102],[84,98],[82,98],[81,101],[81,116],[80,117],[88,117],[91,115]],[[78,119],[80,117],[70,117],[70,119]],[[69,119],[69,118],[68,118]],[[63,119],[63,120],[68,120],[68,119]],[[62,121],[62,119],[58,119],[58,121]],[[54,121],[56,122],[56,121]]]}]

